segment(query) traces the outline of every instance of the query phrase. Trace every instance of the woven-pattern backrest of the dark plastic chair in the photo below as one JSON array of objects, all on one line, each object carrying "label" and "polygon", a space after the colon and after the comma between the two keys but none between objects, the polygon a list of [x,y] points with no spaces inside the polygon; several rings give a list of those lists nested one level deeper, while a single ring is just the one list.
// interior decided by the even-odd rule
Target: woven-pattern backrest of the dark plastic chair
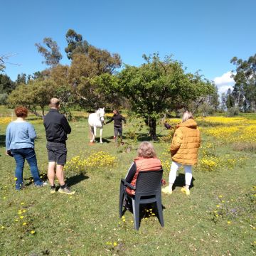
[{"label": "woven-pattern backrest of the dark plastic chair", "polygon": [[136,194],[148,193],[155,194],[161,191],[161,178],[163,170],[159,171],[139,171],[136,182]]}]

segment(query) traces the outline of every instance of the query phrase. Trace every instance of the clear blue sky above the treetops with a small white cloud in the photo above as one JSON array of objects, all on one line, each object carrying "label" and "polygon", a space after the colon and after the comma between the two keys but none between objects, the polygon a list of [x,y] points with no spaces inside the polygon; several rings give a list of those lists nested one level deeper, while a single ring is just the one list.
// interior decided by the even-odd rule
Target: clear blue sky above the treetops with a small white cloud
[{"label": "clear blue sky above the treetops with a small white cloud", "polygon": [[129,65],[143,63],[142,54],[173,54],[188,71],[215,80],[221,90],[232,85],[233,56],[255,54],[255,0],[9,0],[1,1],[0,55],[9,58],[6,74],[43,70],[35,43],[51,37],[64,48],[73,28],[93,46],[119,53]]}]

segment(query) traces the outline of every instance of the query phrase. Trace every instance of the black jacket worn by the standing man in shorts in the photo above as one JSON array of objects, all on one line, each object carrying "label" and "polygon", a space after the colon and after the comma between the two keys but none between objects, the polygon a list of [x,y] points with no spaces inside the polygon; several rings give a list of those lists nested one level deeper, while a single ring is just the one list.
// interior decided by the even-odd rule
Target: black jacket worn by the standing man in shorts
[{"label": "black jacket worn by the standing man in shorts", "polygon": [[50,109],[43,117],[43,125],[46,129],[46,139],[48,142],[65,142],[70,134],[71,127],[68,120],[58,110]]}]

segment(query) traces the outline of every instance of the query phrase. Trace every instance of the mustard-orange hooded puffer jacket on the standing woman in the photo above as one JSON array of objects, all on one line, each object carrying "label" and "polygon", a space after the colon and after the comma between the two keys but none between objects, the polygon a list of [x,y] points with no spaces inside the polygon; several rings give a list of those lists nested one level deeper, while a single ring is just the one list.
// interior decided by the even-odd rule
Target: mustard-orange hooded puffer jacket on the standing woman
[{"label": "mustard-orange hooded puffer jacket on the standing woman", "polygon": [[197,164],[200,144],[200,131],[194,119],[178,124],[171,142],[171,159],[180,164]]}]

